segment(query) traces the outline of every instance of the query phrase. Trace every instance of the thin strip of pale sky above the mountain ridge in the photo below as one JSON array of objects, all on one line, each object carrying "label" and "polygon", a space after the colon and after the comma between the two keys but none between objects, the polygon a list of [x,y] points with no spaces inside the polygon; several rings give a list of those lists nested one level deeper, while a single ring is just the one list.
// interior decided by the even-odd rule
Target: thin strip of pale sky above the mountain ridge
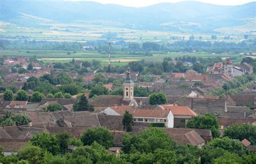
[{"label": "thin strip of pale sky above the mountain ridge", "polygon": [[[86,0],[66,0],[66,1],[86,1]],[[161,2],[181,2],[181,0],[91,0],[103,4],[120,4],[124,6],[142,7],[149,6],[152,4],[157,4]],[[194,1],[194,0],[186,0]],[[249,2],[254,2],[253,0],[197,0],[204,3],[218,4],[218,5],[241,5]]]}]

